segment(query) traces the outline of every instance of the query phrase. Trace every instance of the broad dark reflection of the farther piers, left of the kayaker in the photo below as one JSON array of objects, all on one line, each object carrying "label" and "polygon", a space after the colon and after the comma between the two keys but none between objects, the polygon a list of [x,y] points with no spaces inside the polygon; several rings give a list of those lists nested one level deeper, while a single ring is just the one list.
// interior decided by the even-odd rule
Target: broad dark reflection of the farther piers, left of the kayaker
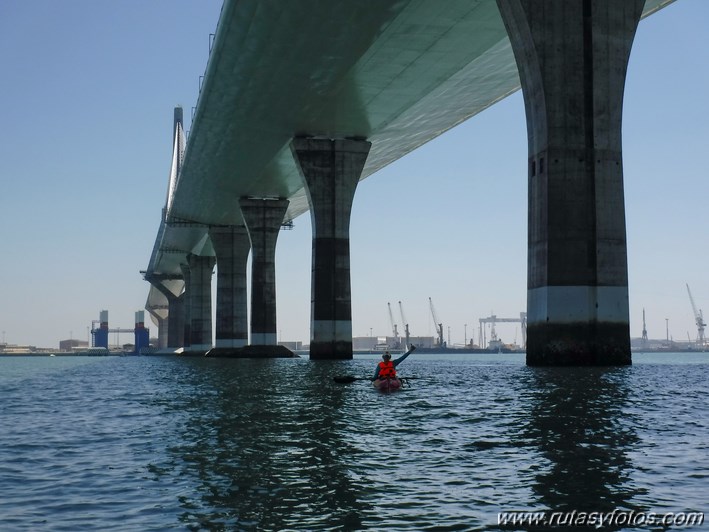
[{"label": "broad dark reflection of the farther piers, left of the kayaker", "polygon": [[313,366],[304,381],[272,360],[199,366],[202,393],[173,405],[193,415],[169,452],[183,461],[180,474],[201,483],[198,500],[184,497],[181,520],[282,529],[318,519],[360,528],[362,487],[340,459],[353,450],[342,437],[347,390],[324,385],[329,368]]}]

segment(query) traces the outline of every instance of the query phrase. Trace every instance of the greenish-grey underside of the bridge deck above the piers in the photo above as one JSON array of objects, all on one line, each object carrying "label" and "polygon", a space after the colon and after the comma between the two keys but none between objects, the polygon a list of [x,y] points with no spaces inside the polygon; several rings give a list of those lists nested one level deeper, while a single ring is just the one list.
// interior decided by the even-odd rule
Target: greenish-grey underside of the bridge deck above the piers
[{"label": "greenish-grey underside of the bridge deck above the piers", "polygon": [[[518,89],[494,0],[226,0],[168,216],[241,224],[240,197],[271,196],[293,219],[308,210],[294,136],[370,140],[364,179]],[[197,226],[155,245],[151,272],[213,254]]]}]

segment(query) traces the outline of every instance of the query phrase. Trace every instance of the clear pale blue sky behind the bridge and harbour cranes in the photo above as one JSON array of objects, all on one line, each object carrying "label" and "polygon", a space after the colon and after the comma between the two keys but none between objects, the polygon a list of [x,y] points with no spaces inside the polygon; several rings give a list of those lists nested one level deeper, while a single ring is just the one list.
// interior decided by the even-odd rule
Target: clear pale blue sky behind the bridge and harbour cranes
[{"label": "clear pale blue sky behind the bridge and harbour cranes", "polygon": [[[132,327],[165,201],[172,110],[187,127],[221,0],[0,2],[0,330],[8,343],[85,339],[99,311]],[[641,22],[624,105],[631,335],[696,335],[709,313],[709,2]],[[401,300],[450,340],[526,306],[527,142],[521,93],[360,183],[351,222],[353,332],[389,331]],[[307,340],[310,220],[279,237],[283,340]],[[152,327],[153,335],[155,327]],[[515,326],[498,332],[510,342]],[[129,338],[125,338],[128,341]]]}]

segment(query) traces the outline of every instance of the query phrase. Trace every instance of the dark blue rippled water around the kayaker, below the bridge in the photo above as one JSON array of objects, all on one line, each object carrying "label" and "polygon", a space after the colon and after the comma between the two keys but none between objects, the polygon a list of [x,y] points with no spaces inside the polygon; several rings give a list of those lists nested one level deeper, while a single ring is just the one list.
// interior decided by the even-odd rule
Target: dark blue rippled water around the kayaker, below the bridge
[{"label": "dark blue rippled water around the kayaker, below the bridge", "polygon": [[[707,511],[709,354],[0,358],[0,530],[475,530],[504,510]],[[705,525],[706,526],[706,525]],[[696,530],[696,528],[694,529]]]}]

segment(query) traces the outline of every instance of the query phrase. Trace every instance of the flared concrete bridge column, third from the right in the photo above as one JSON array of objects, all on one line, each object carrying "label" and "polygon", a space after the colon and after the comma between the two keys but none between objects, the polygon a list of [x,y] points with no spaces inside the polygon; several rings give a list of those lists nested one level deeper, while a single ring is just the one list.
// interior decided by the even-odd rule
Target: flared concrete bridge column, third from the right
[{"label": "flared concrete bridge column, third from the right", "polygon": [[275,346],[276,241],[288,200],[242,198],[241,214],[251,240],[251,345]]}]

